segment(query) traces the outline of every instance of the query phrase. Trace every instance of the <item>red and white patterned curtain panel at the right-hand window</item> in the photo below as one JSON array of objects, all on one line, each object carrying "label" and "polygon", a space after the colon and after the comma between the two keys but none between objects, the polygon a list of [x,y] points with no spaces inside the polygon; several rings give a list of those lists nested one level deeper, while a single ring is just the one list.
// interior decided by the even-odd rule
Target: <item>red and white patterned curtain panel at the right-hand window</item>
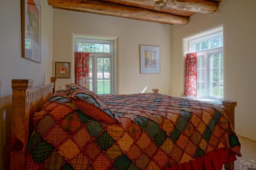
[{"label": "red and white patterned curtain panel at the right-hand window", "polygon": [[185,57],[185,96],[196,97],[197,53],[188,53]]}]

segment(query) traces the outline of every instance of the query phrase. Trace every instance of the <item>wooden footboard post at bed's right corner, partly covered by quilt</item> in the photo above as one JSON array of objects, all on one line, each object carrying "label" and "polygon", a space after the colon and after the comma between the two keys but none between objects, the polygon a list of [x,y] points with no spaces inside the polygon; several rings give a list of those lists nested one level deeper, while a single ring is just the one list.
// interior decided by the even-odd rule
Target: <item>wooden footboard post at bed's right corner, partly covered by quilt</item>
[{"label": "wooden footboard post at bed's right corner, partly covered by quilt", "polygon": [[[226,113],[228,114],[228,117],[233,125],[235,127],[235,107],[236,102],[235,101],[222,101],[222,105],[224,106],[224,109]],[[234,161],[227,162],[224,166],[226,170],[234,170]]]}]

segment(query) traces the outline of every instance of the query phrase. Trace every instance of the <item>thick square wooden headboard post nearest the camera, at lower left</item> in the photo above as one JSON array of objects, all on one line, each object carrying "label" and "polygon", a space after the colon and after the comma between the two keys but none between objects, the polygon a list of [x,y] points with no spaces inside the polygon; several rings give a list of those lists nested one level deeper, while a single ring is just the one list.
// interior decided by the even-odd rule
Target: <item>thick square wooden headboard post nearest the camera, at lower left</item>
[{"label": "thick square wooden headboard post nearest the camera, at lower left", "polygon": [[29,125],[26,115],[26,91],[33,86],[33,82],[32,79],[12,80],[11,170],[25,169]]}]

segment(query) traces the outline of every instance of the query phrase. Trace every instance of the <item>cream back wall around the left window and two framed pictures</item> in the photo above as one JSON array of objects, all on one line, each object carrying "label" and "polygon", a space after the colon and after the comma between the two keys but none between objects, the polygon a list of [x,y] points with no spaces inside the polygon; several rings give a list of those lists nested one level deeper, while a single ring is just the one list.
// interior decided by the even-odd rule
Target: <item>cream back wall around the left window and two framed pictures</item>
[{"label": "cream back wall around the left window and two framed pictures", "polygon": [[[170,94],[169,25],[81,12],[53,10],[53,61],[71,62],[71,78],[57,79],[56,87],[74,83],[74,36],[117,40],[118,94],[152,92]],[[160,74],[140,74],[140,45],[160,46]],[[55,67],[55,66],[53,66]]]}]

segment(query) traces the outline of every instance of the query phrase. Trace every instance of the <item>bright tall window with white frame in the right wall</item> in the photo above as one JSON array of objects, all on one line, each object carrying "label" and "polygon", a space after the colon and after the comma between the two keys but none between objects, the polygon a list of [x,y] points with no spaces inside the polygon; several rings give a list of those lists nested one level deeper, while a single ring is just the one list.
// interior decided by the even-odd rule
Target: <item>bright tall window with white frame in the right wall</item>
[{"label": "bright tall window with white frame in the right wall", "polygon": [[190,41],[197,52],[197,96],[223,99],[223,34],[217,32]]}]

